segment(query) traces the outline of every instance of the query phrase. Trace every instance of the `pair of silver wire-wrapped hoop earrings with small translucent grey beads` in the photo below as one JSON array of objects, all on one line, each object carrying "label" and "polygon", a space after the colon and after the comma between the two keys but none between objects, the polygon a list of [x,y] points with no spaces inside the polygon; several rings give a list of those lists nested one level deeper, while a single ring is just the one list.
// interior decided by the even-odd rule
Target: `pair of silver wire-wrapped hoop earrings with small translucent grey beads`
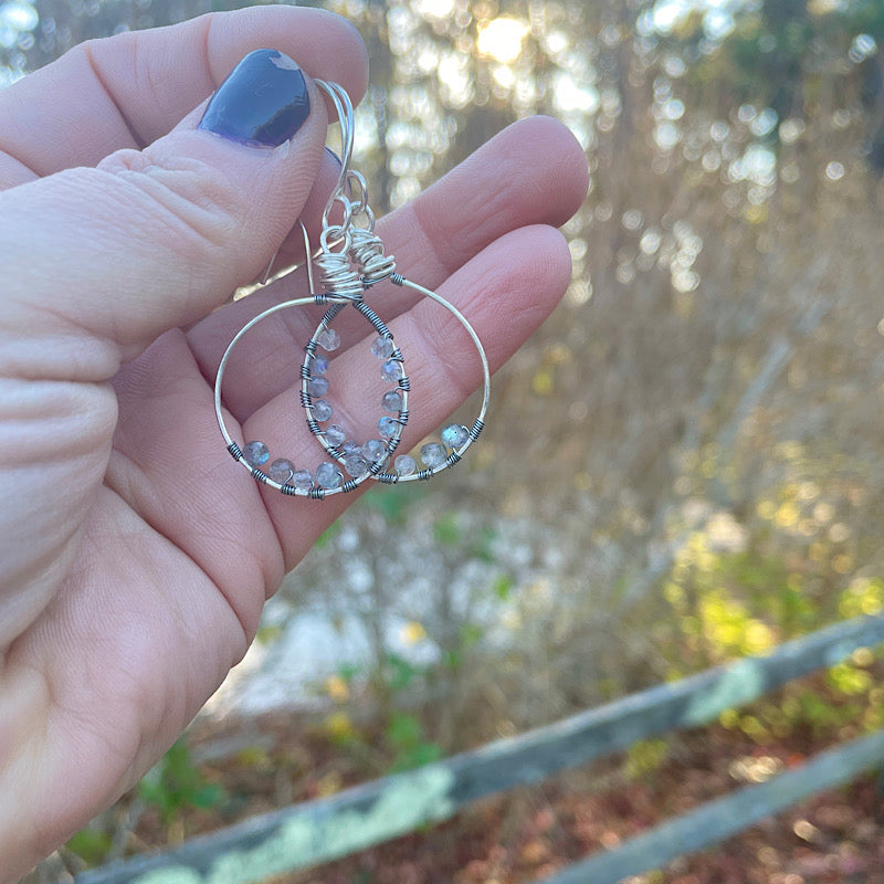
[{"label": "pair of silver wire-wrapped hoop earrings with small translucent grey beads", "polygon": [[[238,463],[249,470],[255,481],[285,495],[323,499],[332,494],[354,491],[368,480],[385,484],[425,481],[454,466],[478,439],[485,425],[485,413],[491,398],[491,371],[482,341],[466,317],[441,295],[399,273],[393,256],[385,254],[383,243],[375,233],[375,215],[368,204],[366,180],[350,168],[354,143],[352,104],[338,84],[322,80],[315,83],[328,95],[338,116],[341,169],[323,212],[319,252],[315,259],[306,228],[301,222],[311,294],[263,311],[236,333],[218,366],[214,410],[228,451]],[[333,213],[339,214],[340,220],[333,222]],[[267,265],[264,282],[271,277],[274,259]],[[322,270],[322,292],[317,292],[314,284],[314,261]],[[419,454],[422,469],[418,469],[417,460],[410,454],[400,454],[393,460],[409,420],[411,382],[406,373],[404,356],[392,333],[366,303],[371,287],[383,281],[401,288],[410,288],[446,309],[466,330],[482,364],[483,397],[478,415],[470,427],[448,424],[441,431],[441,441],[432,440],[423,444]],[[299,375],[301,406],[311,433],[329,460],[309,470],[303,465],[303,457],[298,461],[299,465],[288,457],[271,461],[270,449],[264,442],[254,440],[242,445],[235,442],[224,422],[221,387],[233,348],[252,328],[280,311],[316,304],[326,305],[327,309],[304,346],[305,355]],[[387,386],[380,398],[381,417],[377,422],[379,439],[360,440],[352,433],[348,435],[337,423],[330,422],[334,406],[326,398],[332,386],[326,377],[329,368],[327,354],[334,352],[340,346],[340,336],[333,324],[348,306],[359,313],[375,332],[371,355],[379,360],[379,376]]]}]

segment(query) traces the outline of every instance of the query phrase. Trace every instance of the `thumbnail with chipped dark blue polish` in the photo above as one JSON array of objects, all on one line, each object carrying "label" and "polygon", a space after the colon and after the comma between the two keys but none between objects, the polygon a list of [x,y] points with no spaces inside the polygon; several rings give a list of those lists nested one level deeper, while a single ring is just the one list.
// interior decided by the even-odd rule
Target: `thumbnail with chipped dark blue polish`
[{"label": "thumbnail with chipped dark blue polish", "polygon": [[301,69],[275,49],[250,52],[218,87],[199,128],[255,147],[278,147],[311,113]]}]

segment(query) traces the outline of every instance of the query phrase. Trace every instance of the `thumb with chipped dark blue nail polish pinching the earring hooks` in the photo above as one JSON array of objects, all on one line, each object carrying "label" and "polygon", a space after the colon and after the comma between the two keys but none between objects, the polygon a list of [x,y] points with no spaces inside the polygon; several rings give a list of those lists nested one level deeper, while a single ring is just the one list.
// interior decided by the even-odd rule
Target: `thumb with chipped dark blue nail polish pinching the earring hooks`
[{"label": "thumb with chipped dark blue nail polish pinching the earring hooks", "polygon": [[10,368],[109,378],[253,280],[301,213],[326,126],[312,81],[257,50],[204,113],[144,150],[0,193],[0,217],[15,219],[14,242],[0,235]]}]

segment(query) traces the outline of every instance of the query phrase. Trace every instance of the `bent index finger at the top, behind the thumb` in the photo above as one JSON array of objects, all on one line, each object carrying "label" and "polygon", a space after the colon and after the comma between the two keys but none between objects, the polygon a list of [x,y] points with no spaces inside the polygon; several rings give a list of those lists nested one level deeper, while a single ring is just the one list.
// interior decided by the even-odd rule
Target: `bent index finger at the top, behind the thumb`
[{"label": "bent index finger at the top, behind the thumb", "polygon": [[254,7],[91,41],[0,91],[0,188],[151,144],[264,46],[340,83],[354,104],[365,92],[358,33],[315,9]]}]

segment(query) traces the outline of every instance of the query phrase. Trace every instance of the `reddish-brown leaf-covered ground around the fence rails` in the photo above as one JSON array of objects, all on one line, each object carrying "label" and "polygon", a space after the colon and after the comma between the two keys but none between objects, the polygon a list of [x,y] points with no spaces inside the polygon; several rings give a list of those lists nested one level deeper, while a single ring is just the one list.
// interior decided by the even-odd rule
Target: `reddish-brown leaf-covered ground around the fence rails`
[{"label": "reddish-brown leaf-covered ground around the fence rails", "polygon": [[[365,737],[370,739],[370,733]],[[382,741],[383,735],[378,733]],[[193,764],[221,787],[206,809],[161,821],[146,804],[127,852],[149,851],[255,813],[333,794],[378,776],[365,757],[329,741],[315,716],[267,714],[198,723]],[[483,799],[427,831],[273,884],[523,884],[611,849],[717,796],[794,768],[827,747],[810,733],[760,745],[713,726],[670,735],[642,759],[621,754],[537,787]],[[242,747],[242,748],[238,748]],[[217,757],[213,757],[217,756]],[[367,776],[368,774],[368,776]],[[768,818],[714,850],[630,884],[884,884],[884,798],[874,776]]]}]

